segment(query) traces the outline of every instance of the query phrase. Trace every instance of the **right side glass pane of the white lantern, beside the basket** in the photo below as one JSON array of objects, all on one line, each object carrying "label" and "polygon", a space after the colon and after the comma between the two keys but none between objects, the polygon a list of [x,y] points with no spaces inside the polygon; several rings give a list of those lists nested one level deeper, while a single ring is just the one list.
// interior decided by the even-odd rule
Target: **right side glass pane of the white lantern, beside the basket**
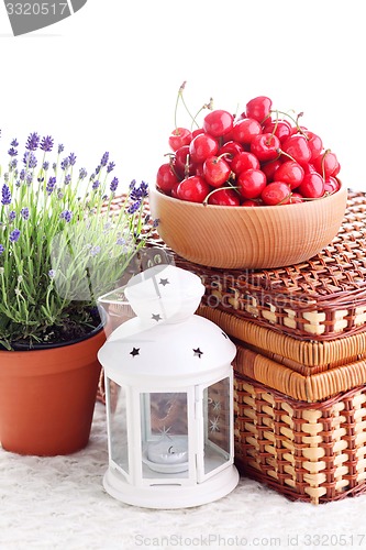
[{"label": "right side glass pane of the white lantern, beside the basket", "polygon": [[231,392],[230,378],[223,378],[203,392],[204,473],[230,460]]}]

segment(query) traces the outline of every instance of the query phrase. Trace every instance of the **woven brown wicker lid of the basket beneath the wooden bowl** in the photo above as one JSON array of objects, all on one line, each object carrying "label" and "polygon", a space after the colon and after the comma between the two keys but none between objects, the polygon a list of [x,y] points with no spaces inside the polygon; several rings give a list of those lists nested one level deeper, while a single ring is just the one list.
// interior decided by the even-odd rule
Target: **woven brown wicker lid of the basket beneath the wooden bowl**
[{"label": "woven brown wicker lid of the basket beneath the wooden bowl", "polygon": [[348,191],[332,243],[308,262],[277,270],[222,271],[175,256],[201,276],[204,302],[301,340],[331,340],[366,327],[366,196]]}]

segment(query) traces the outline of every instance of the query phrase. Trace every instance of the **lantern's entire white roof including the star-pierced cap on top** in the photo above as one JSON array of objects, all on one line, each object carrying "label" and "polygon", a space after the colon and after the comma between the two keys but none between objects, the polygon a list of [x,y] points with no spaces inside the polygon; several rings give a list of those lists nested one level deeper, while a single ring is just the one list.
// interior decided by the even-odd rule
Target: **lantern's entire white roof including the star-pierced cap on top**
[{"label": "lantern's entire white roof including the star-pierced cap on top", "polygon": [[99,351],[107,374],[174,384],[228,367],[236,346],[220,327],[195,315],[203,293],[197,275],[174,265],[132,277],[124,294],[137,317],[115,329]]}]

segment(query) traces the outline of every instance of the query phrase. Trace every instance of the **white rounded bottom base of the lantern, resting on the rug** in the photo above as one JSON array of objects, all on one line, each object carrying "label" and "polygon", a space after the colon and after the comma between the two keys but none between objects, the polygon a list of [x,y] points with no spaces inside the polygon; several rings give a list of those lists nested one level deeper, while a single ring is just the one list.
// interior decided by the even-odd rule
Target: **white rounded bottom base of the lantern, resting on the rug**
[{"label": "white rounded bottom base of the lantern, resting on the rug", "polygon": [[218,501],[236,487],[239,479],[236,468],[231,465],[196,485],[167,484],[136,487],[127,483],[118,470],[110,468],[104,474],[103,487],[113,498],[132,506],[177,509]]}]

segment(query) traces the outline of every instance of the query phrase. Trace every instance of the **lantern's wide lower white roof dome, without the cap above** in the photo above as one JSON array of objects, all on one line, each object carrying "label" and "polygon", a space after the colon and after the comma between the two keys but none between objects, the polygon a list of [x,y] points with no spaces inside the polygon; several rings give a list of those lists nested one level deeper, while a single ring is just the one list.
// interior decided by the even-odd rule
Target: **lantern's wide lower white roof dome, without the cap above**
[{"label": "lantern's wide lower white roof dome, without the cap above", "polygon": [[231,364],[236,346],[212,321],[198,315],[182,322],[146,326],[138,317],[119,327],[99,350],[98,358],[112,377],[146,377],[174,384],[196,381]]}]

